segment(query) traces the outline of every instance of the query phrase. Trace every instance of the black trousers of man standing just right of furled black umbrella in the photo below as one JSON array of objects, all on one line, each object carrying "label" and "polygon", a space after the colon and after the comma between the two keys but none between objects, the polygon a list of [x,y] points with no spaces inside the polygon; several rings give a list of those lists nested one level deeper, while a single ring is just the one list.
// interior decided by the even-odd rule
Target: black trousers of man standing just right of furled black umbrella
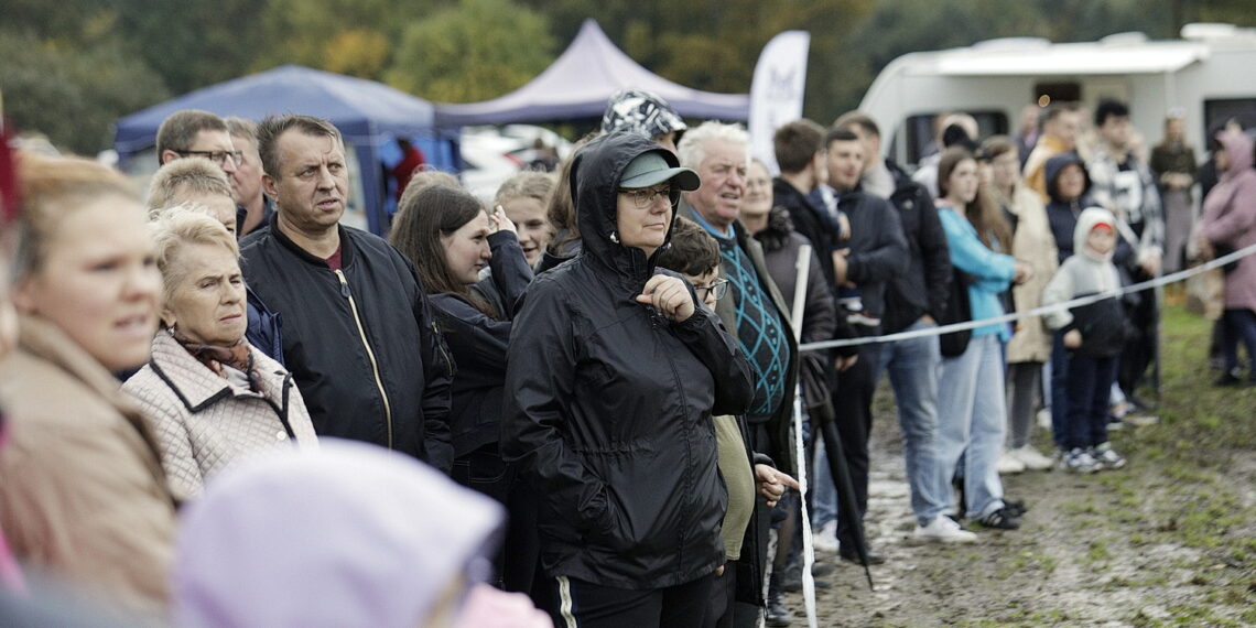
[{"label": "black trousers of man standing just right of furled black umbrella", "polygon": [[[868,435],[872,433],[872,397],[877,392],[877,363],[880,362],[880,347],[864,344],[859,347],[859,359],[853,367],[838,374],[838,386],[833,389],[833,413],[842,438],[842,451],[850,467],[850,481],[854,484],[855,504],[859,506],[860,522],[868,512]],[[849,551],[855,546],[854,521],[838,515],[838,543]]]}]

